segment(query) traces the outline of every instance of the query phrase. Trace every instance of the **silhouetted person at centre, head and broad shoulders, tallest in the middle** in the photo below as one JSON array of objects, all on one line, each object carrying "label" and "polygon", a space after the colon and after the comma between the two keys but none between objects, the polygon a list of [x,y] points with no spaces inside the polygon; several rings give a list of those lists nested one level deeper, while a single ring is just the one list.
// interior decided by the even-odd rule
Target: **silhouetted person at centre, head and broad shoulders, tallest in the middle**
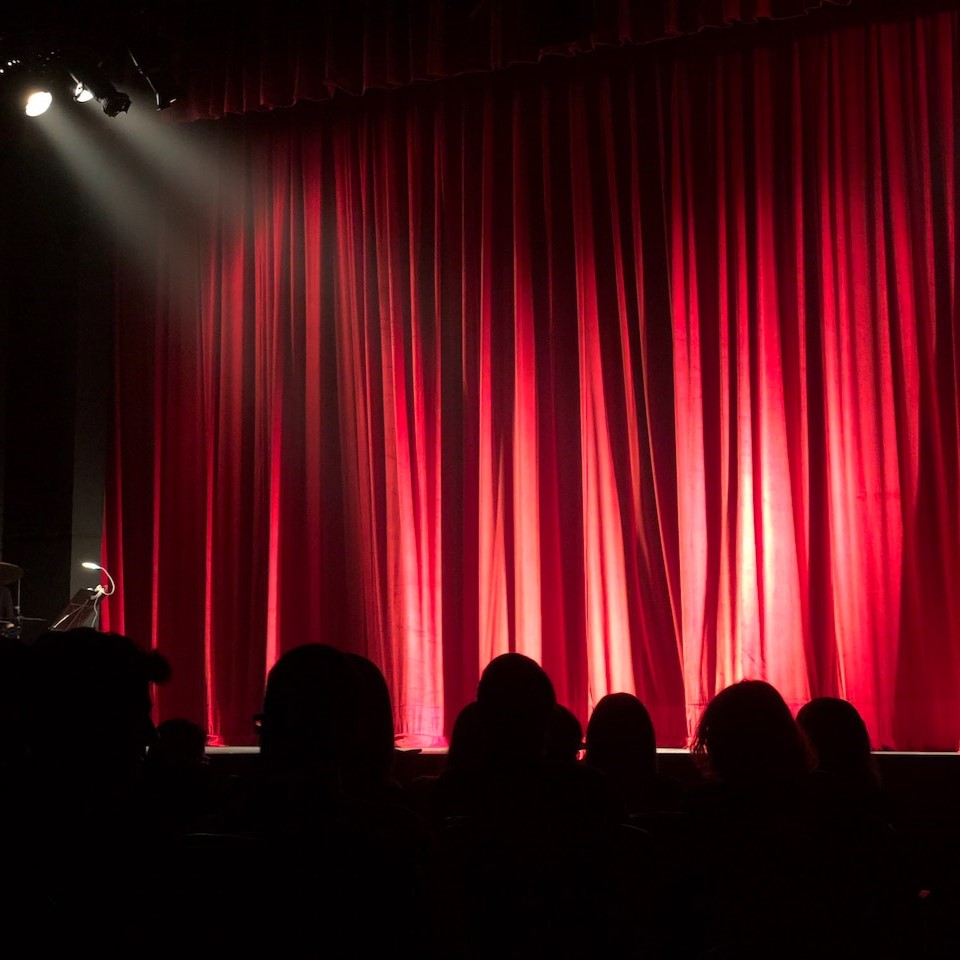
[{"label": "silhouetted person at centre, head and broad shoulders, tallest in the middle", "polygon": [[555,707],[543,669],[508,653],[487,665],[476,706],[460,718],[476,720],[478,762],[455,756],[449,776],[463,808],[442,837],[467,956],[606,955],[639,946],[646,835],[617,833],[602,775],[547,759]]}]

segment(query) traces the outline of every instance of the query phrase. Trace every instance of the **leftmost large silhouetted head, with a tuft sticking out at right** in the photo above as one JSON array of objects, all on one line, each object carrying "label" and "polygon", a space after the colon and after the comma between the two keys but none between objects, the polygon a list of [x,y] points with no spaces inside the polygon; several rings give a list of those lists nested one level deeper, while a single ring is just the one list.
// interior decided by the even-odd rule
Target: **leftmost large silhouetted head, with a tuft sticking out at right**
[{"label": "leftmost large silhouetted head, with a tuft sticking out at right", "polygon": [[30,676],[38,757],[123,767],[142,759],[156,737],[150,684],[165,683],[170,666],[122,634],[78,627],[37,638]]}]

